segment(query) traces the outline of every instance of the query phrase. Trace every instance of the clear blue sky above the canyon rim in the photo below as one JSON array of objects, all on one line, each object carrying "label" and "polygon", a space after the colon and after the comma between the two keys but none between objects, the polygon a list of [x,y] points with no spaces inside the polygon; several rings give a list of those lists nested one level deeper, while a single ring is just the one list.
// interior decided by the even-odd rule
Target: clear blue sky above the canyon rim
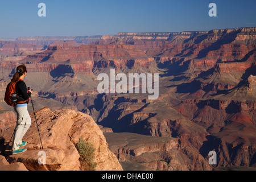
[{"label": "clear blue sky above the canyon rim", "polygon": [[[46,17],[38,4],[46,4]],[[217,17],[209,17],[209,3]],[[114,35],[256,26],[255,0],[0,1],[0,37]]]}]

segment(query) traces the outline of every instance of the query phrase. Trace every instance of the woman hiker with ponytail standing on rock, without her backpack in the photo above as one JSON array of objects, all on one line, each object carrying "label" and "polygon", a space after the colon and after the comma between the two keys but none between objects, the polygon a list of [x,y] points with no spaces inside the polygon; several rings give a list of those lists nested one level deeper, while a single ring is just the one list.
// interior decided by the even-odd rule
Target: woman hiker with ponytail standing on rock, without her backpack
[{"label": "woman hiker with ponytail standing on rock, without her backpack", "polygon": [[14,133],[13,146],[11,149],[12,154],[19,154],[27,150],[26,148],[19,149],[21,146],[26,146],[27,142],[22,142],[22,138],[31,125],[31,118],[27,110],[27,105],[32,94],[32,90],[27,90],[27,86],[23,81],[26,75],[27,68],[24,64],[22,64],[16,68],[13,79],[11,79],[11,82],[16,82],[15,90],[18,96],[18,101],[14,106],[14,111],[17,114],[17,124]]}]

